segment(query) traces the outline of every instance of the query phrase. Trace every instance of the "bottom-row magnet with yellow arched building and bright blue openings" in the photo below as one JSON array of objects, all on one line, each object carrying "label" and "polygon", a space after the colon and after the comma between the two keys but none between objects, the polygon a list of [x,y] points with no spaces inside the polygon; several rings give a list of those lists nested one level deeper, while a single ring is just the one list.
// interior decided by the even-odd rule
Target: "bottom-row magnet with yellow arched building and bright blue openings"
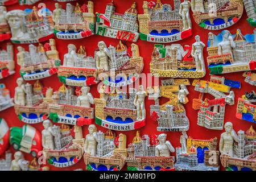
[{"label": "bottom-row magnet with yellow arched building and bright blue openings", "polygon": [[219,171],[217,137],[209,140],[193,139],[186,133],[180,137],[181,147],[176,147],[176,171]]}]

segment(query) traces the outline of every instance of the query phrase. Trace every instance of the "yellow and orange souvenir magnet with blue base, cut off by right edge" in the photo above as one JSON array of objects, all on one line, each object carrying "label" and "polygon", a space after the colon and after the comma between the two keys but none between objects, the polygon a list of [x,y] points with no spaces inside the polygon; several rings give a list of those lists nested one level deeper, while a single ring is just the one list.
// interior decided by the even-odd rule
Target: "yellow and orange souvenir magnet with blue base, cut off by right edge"
[{"label": "yellow and orange souvenir magnet with blue base, cut off by right edge", "polygon": [[255,91],[246,92],[238,98],[237,114],[238,119],[256,123],[256,94]]}]

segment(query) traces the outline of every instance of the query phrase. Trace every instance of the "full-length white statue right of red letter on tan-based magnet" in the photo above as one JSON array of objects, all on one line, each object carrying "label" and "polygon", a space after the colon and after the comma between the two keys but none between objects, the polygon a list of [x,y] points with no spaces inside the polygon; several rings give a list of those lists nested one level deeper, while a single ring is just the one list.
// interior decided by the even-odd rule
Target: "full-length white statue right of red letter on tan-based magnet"
[{"label": "full-length white statue right of red letter on tan-based magnet", "polygon": [[205,44],[201,42],[200,36],[195,36],[196,42],[192,44],[191,56],[194,57],[196,62],[196,71],[205,72],[203,49]]}]

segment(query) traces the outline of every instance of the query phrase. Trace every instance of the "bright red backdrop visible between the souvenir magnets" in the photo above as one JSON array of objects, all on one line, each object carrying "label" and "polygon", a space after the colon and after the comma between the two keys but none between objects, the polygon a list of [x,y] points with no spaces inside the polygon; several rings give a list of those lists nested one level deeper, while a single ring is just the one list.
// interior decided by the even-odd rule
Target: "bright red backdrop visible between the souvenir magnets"
[{"label": "bright red backdrop visible between the souvenir magnets", "polygon": [[[98,13],[105,13],[105,7],[106,4],[110,2],[110,0],[92,0],[94,2],[94,13],[98,12]],[[81,3],[86,3],[87,1],[77,1],[80,4]],[[117,13],[124,13],[125,10],[127,10],[128,8],[130,8],[130,6],[132,5],[133,2],[137,2],[137,10],[138,10],[138,14],[143,14],[143,9],[142,9],[142,5],[143,5],[143,1],[142,0],[127,0],[127,1],[117,1],[115,0],[114,3],[116,5],[116,11]],[[36,3],[34,6],[38,6],[39,3],[45,3],[46,7],[53,11],[55,9],[54,4],[56,3],[56,1],[40,1],[38,3]],[[71,2],[73,5],[75,5],[76,2]],[[172,7],[173,7],[173,1],[167,1],[167,0],[162,0],[162,3],[171,3]],[[65,3],[60,3],[63,7],[63,9],[65,9]],[[14,10],[14,9],[26,9],[26,8],[30,8],[31,6],[20,6],[18,4],[13,5],[13,6],[8,6],[7,10]],[[201,36],[201,41],[203,41],[205,44],[207,44],[207,40],[208,40],[208,33],[210,31],[208,30],[204,30],[203,28],[201,28],[200,26],[198,26],[195,22],[195,20],[193,20],[192,18],[192,12],[191,12],[191,20],[192,20],[192,30],[193,30],[193,35],[187,39],[181,40],[180,42],[176,42],[176,43],[180,43],[182,45],[192,45],[192,43],[195,42],[195,36],[196,35],[200,35]],[[238,23],[236,23],[234,26],[227,28],[227,30],[229,30],[230,32],[232,32],[232,34],[236,33],[237,28],[240,28],[242,31],[242,34],[252,34],[253,33],[253,27],[250,27],[249,23],[247,23],[247,15],[244,11],[242,18],[239,20]],[[214,34],[220,34],[221,31],[214,31]],[[97,48],[97,43],[101,40],[103,40],[107,46],[109,46],[109,44],[112,44],[113,46],[117,45],[119,40],[115,40],[115,39],[111,39],[111,38],[105,38],[102,36],[90,36],[89,38],[85,38],[85,39],[80,39],[80,40],[59,40],[56,39],[56,47],[57,50],[59,51],[60,54],[60,59],[61,62],[63,62],[63,56],[65,53],[67,53],[67,46],[68,44],[72,43],[75,44],[77,46],[77,48],[79,48],[80,45],[84,46],[86,48],[86,52],[87,55],[94,55],[94,50]],[[6,48],[6,42],[1,42],[1,48]],[[130,46],[131,43],[130,42],[125,42],[125,44],[127,46]],[[142,40],[138,40],[138,42],[136,43],[139,45],[139,51],[142,57],[144,57],[144,70],[143,73],[150,73],[150,61],[151,61],[151,52],[153,51],[154,48],[154,43],[148,43],[148,42],[144,42]],[[167,45],[170,45],[167,44]],[[17,51],[17,47],[20,46],[20,44],[15,44],[14,45],[14,57],[15,57],[15,62],[16,62],[16,53]],[[24,47],[26,50],[28,50],[28,45],[23,44],[21,45],[22,47]],[[204,60],[205,60],[205,65],[207,65],[207,61],[206,61],[206,57],[207,57],[207,51],[206,51],[206,47],[204,49]],[[14,88],[16,86],[16,78],[20,77],[19,75],[19,65],[15,65],[15,75],[9,76],[7,78],[4,78],[2,80],[0,80],[1,83],[4,83],[7,88],[10,89],[11,92],[11,97],[14,97]],[[251,91],[251,90],[255,90],[255,86],[251,86],[249,84],[247,84],[246,82],[244,82],[244,77],[242,77],[242,73],[243,72],[238,72],[238,73],[229,73],[229,74],[225,74],[222,76],[225,76],[225,78],[230,79],[230,80],[236,80],[236,81],[240,81],[241,82],[241,89],[232,89],[234,90],[234,93],[236,94],[236,99],[235,99],[235,104],[233,106],[226,106],[226,113],[225,113],[225,122],[227,121],[231,121],[233,122],[233,127],[234,130],[238,131],[238,130],[247,130],[249,129],[250,125],[253,125],[255,128],[255,124],[254,123],[250,123],[247,121],[243,121],[240,119],[236,118],[236,107],[237,107],[237,99],[238,97],[242,96],[246,91]],[[209,70],[207,69],[207,75],[202,78],[202,80],[209,80],[210,76],[209,76]],[[52,87],[53,90],[57,90],[59,89],[59,87],[61,86],[61,82],[59,82],[59,79],[57,78],[57,75],[53,75],[51,77],[48,78],[44,78],[43,80],[41,80],[43,85],[46,87]],[[193,79],[190,79],[191,84]],[[33,83],[33,81],[31,81],[31,83]],[[146,85],[144,85],[144,88],[146,88]],[[188,86],[188,90],[189,90],[189,103],[187,105],[185,105],[185,109],[187,112],[187,116],[189,118],[189,122],[190,122],[190,128],[189,131],[187,132],[189,137],[195,138],[195,139],[210,139],[210,138],[214,138],[217,137],[218,139],[220,139],[220,135],[223,131],[218,131],[218,130],[209,130],[209,129],[205,129],[204,127],[198,126],[197,125],[197,111],[192,109],[192,100],[193,98],[197,98],[199,96],[198,92],[195,92],[194,86]],[[93,94],[94,98],[99,98],[100,95],[97,92],[97,85],[93,85],[91,86],[91,93]],[[209,94],[205,94],[206,97],[213,99],[212,96],[210,96]],[[160,104],[166,102],[168,100],[162,99],[160,101]],[[142,127],[141,129],[139,129],[141,131],[141,135],[143,134],[148,134],[148,135],[153,135],[153,134],[160,134],[160,132],[156,131],[156,127],[157,127],[157,123],[152,121],[150,118],[150,105],[154,104],[153,100],[146,100],[145,102],[146,104],[146,111],[147,111],[147,117],[146,117],[146,126]],[[1,111],[0,113],[0,118],[4,118],[9,127],[13,127],[13,126],[18,126],[18,127],[22,127],[24,125],[24,123],[22,121],[19,121],[18,117],[16,116],[15,112],[14,112],[14,108],[11,107],[10,109],[7,109],[5,111]],[[43,126],[42,123],[38,123],[36,125],[32,125],[33,127],[35,127],[36,129],[38,129],[39,131],[43,130]],[[101,126],[97,126],[98,130],[101,131],[106,131],[106,129],[104,129]],[[83,127],[83,131],[84,131],[84,136],[86,134],[88,134],[88,126],[84,126]],[[118,131],[117,134],[119,134],[120,132]],[[127,135],[127,144],[131,143],[133,140],[133,137],[136,134],[136,131],[126,131],[123,132]],[[174,147],[180,146],[180,132],[167,132],[166,133],[168,135],[167,139],[170,140],[170,142],[172,143],[172,145]],[[11,151],[14,152],[13,148],[11,148]],[[30,154],[24,154],[25,158],[28,160],[32,159],[32,156]],[[173,154],[175,155],[175,154]],[[0,156],[4,157],[4,156]],[[68,168],[55,168],[52,166],[49,166],[51,170],[73,170],[73,169],[78,169],[78,168],[82,168],[85,169],[86,166],[84,164],[83,159],[80,160],[79,163],[75,164],[74,166],[68,167]],[[126,167],[123,169],[127,169]],[[221,167],[221,169],[223,170],[224,168]]]}]

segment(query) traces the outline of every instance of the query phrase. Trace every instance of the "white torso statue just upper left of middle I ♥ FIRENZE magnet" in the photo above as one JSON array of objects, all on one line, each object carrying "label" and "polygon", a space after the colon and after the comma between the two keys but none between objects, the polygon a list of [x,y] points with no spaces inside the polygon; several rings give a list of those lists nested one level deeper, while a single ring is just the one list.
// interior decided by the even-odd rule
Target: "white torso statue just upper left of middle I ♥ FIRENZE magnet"
[{"label": "white torso statue just upper left of middle I \u2665 FIRENZE magnet", "polygon": [[94,98],[90,92],[89,86],[83,86],[81,88],[81,96],[77,97],[77,106],[81,107],[90,107],[91,104],[94,104]]}]

